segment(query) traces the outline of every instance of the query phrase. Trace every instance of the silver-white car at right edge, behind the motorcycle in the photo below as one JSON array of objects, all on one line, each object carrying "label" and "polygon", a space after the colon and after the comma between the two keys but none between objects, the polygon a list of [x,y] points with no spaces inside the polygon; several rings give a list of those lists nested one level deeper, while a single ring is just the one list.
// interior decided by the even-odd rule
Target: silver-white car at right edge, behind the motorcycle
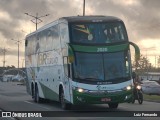
[{"label": "silver-white car at right edge, behind the motorcycle", "polygon": [[142,92],[148,95],[160,95],[160,84],[156,81],[144,81],[142,86]]}]

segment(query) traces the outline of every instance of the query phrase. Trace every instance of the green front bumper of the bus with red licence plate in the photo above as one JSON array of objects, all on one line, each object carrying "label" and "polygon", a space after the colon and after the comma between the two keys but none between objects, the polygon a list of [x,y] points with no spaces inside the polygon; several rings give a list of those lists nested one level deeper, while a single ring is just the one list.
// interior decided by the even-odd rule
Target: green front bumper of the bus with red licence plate
[{"label": "green front bumper of the bus with red licence plate", "polygon": [[108,104],[131,102],[133,98],[132,89],[112,93],[89,93],[73,90],[73,104]]}]

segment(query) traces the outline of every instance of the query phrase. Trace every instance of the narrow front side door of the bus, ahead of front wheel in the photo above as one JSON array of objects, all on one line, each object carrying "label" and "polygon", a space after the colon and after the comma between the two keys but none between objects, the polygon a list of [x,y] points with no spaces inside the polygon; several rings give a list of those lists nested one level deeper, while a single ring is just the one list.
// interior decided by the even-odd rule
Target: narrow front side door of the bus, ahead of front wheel
[{"label": "narrow front side door of the bus, ahead of front wheel", "polygon": [[68,101],[71,101],[71,64],[68,62],[68,57],[63,57],[64,65],[64,89],[65,89],[65,98]]}]

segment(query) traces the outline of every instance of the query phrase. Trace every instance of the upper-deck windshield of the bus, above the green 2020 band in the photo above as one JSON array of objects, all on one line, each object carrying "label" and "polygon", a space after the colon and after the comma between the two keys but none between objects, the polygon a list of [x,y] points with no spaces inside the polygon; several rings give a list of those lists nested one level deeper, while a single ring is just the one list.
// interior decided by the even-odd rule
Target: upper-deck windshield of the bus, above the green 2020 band
[{"label": "upper-deck windshield of the bus, above the green 2020 band", "polygon": [[103,44],[127,41],[127,33],[121,22],[73,23],[71,25],[73,43]]}]

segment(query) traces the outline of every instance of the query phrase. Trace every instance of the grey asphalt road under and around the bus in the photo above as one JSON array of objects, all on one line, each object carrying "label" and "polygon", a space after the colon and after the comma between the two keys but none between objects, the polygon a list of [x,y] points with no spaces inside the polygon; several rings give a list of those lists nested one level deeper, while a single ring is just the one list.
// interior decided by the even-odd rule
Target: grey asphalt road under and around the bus
[{"label": "grey asphalt road under and around the bus", "polygon": [[[47,111],[49,114],[63,115],[66,114],[57,102],[50,101],[49,103],[37,104],[34,103],[31,96],[26,93],[26,88],[23,85],[18,85],[16,82],[0,82],[0,109],[3,111]],[[81,112],[77,112],[80,110]],[[53,112],[56,111],[56,112]],[[58,112],[59,111],[59,112]],[[76,112],[75,112],[76,111]],[[87,112],[86,112],[87,111]],[[90,111],[90,112],[88,112]],[[92,111],[92,112],[91,112]],[[120,119],[127,120],[128,117],[116,117],[120,113],[130,114],[126,111],[140,111],[142,114],[144,111],[160,111],[160,103],[147,102],[144,101],[142,105],[137,102],[135,104],[123,103],[120,104],[117,110],[112,110],[108,108],[108,105],[88,105],[88,106],[74,106],[73,111],[69,111],[70,115],[78,115],[79,117],[54,117],[55,119],[77,119],[77,120],[105,120],[105,119]],[[107,115],[115,117],[104,117]],[[62,115],[62,116],[63,116]],[[82,117],[80,117],[82,116]],[[85,117],[89,116],[89,117]],[[92,117],[93,116],[93,117]],[[96,116],[99,116],[98,118]],[[101,116],[101,117],[100,117]],[[0,118],[0,120],[6,120]],[[20,120],[31,120],[31,118],[19,118]],[[44,118],[34,118],[33,120],[43,120]],[[47,120],[53,120],[53,118],[46,118]],[[153,120],[158,118],[146,118],[146,117],[130,117],[130,119],[143,119],[143,120]]]}]

